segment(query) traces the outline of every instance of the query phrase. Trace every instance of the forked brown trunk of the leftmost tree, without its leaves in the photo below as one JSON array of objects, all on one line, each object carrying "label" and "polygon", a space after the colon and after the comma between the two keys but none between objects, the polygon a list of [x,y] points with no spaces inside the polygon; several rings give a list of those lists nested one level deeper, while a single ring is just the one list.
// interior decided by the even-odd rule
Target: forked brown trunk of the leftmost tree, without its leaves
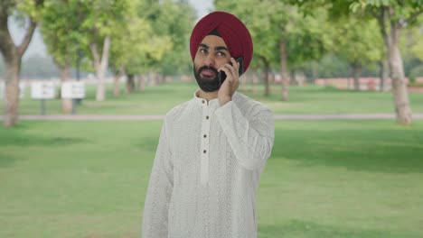
[{"label": "forked brown trunk of the leftmost tree, without its leaves", "polygon": [[3,117],[5,127],[11,127],[18,124],[19,73],[21,69],[21,59],[33,38],[33,32],[37,24],[31,19],[22,43],[19,46],[15,46],[7,25],[10,10],[8,8],[11,7],[11,5],[3,3],[2,8],[3,7],[4,9],[0,9],[0,52],[5,61]]}]

